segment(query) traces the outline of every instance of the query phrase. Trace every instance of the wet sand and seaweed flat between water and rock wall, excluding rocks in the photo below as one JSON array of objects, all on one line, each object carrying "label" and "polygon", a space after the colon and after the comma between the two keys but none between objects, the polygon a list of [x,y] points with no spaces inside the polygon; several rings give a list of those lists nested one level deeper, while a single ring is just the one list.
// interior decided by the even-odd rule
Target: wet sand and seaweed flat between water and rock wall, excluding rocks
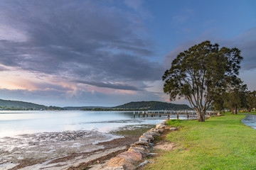
[{"label": "wet sand and seaweed flat between water and rock wall, excluding rocks", "polygon": [[[132,128],[134,127],[134,128]],[[86,130],[43,132],[0,138],[0,169],[84,169],[128,149],[151,126],[127,126],[124,137]],[[134,130],[134,131],[133,131]],[[135,132],[136,131],[136,132]]]}]

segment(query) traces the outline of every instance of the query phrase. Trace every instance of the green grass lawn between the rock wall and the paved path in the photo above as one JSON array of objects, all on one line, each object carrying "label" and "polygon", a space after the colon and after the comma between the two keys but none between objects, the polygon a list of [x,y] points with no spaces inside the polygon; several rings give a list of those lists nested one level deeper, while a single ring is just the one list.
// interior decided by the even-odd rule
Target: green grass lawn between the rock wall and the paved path
[{"label": "green grass lawn between the rock wall and the paved path", "polygon": [[142,169],[256,169],[256,130],[240,123],[242,118],[225,113],[205,123],[169,120],[180,128],[166,137],[176,149],[156,151],[161,156]]}]

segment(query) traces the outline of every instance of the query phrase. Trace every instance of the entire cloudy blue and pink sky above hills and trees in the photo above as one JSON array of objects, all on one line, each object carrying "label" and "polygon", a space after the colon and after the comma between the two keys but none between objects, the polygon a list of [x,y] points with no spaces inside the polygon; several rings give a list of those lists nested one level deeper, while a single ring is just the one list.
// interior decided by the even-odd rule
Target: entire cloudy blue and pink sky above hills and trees
[{"label": "entire cloudy blue and pink sky above hills and trees", "polygon": [[0,0],[0,98],[46,106],[168,101],[165,70],[205,40],[238,47],[239,77],[256,90],[255,0]]}]

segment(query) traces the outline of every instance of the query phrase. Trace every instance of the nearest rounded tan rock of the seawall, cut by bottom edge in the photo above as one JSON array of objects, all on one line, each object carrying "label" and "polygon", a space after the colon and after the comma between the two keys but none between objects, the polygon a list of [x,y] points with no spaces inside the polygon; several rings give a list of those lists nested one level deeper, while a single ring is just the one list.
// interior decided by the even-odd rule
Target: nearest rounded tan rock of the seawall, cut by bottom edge
[{"label": "nearest rounded tan rock of the seawall, cut by bottom edge", "polygon": [[122,157],[114,157],[110,159],[103,169],[113,169],[113,167],[124,170],[134,170],[136,168],[131,162]]}]

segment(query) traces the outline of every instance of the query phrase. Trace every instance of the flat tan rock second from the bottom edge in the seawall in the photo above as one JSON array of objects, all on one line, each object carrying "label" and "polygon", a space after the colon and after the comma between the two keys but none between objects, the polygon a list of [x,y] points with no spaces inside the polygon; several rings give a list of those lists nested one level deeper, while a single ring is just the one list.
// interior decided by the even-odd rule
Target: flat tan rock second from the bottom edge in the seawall
[{"label": "flat tan rock second from the bottom edge in the seawall", "polygon": [[118,154],[117,157],[124,158],[128,162],[131,162],[132,164],[137,164],[143,159],[141,152],[134,151],[122,152],[121,154]]}]

